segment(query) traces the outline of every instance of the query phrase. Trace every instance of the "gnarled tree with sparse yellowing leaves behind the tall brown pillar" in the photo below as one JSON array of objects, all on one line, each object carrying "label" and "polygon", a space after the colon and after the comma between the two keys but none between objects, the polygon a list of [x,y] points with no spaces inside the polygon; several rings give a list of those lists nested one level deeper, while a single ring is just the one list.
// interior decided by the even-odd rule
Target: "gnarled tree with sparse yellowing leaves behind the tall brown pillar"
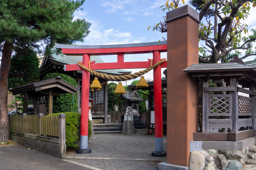
[{"label": "gnarled tree with sparse yellowing leaves behind the tall brown pillar", "polygon": [[[179,2],[172,0],[169,3],[167,0],[160,8],[163,12],[170,11],[178,8]],[[256,31],[252,29],[250,35],[242,36],[248,33],[248,26],[243,22],[249,15],[250,4],[255,7],[256,0],[190,0],[189,3],[199,11],[201,21],[198,37],[204,45],[199,48],[199,62],[227,62],[234,56],[244,59],[256,54],[252,44],[256,40]],[[154,30],[166,32],[167,24],[157,23]]]}]

